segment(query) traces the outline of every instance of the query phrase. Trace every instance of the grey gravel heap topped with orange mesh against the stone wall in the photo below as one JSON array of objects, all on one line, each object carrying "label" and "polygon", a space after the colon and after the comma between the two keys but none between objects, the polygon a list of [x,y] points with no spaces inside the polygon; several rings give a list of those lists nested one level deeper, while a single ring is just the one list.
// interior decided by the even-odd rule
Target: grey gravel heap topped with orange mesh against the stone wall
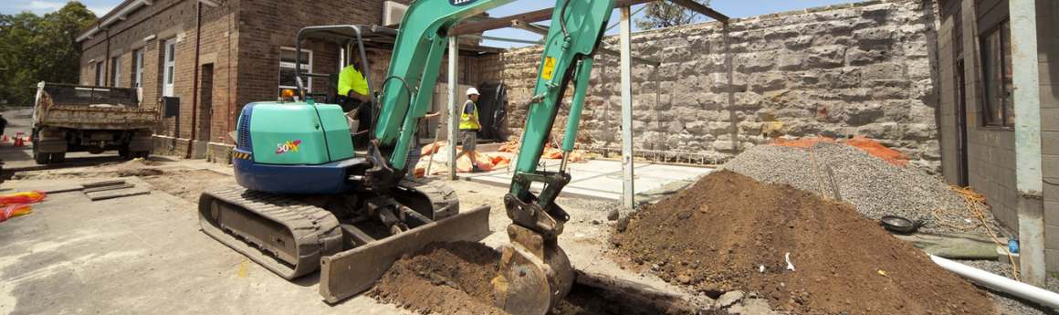
[{"label": "grey gravel heap topped with orange mesh against the stone wall", "polygon": [[[968,213],[963,196],[952,191],[941,179],[914,167],[891,164],[863,150],[845,144],[822,141],[809,148],[759,145],[735,157],[722,169],[742,173],[758,181],[788,183],[821,195],[809,152],[816,161],[828,194],[831,194],[831,190],[826,167],[830,165],[843,202],[851,204],[867,218],[899,215],[913,221],[928,220],[919,229],[923,232],[987,233],[981,226],[961,230],[933,220],[936,209]],[[956,215],[944,212],[940,215],[953,225],[972,224]],[[993,231],[1000,232],[988,210],[986,221]]]}]

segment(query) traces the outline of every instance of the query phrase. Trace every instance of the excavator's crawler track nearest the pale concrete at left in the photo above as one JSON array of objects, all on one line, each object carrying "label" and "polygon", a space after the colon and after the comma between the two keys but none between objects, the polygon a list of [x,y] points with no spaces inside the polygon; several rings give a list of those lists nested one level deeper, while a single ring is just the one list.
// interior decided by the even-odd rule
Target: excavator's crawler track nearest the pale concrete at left
[{"label": "excavator's crawler track nearest the pale concrete at left", "polygon": [[[253,212],[263,218],[279,223],[291,232],[297,241],[298,262],[291,266],[276,258],[266,244],[251,244],[243,238],[215,226],[210,216],[210,205],[221,200]],[[342,230],[338,220],[323,208],[304,205],[283,195],[250,191],[241,187],[228,187],[203,192],[199,198],[199,224],[202,231],[217,241],[247,256],[254,262],[291,280],[320,268],[320,258],[342,250]],[[265,250],[261,250],[263,248]]]}]

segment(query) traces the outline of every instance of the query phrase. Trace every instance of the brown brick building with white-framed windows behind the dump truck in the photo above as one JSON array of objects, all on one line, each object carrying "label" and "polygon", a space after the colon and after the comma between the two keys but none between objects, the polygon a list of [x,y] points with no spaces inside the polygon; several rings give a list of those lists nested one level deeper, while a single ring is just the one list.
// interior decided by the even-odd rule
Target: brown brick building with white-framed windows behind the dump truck
[{"label": "brown brick building with white-framed windows behind the dump truck", "polygon": [[[202,158],[208,143],[232,143],[228,134],[243,105],[275,100],[282,87],[293,85],[299,30],[382,24],[384,2],[126,0],[74,36],[83,52],[80,84],[139,86],[143,106],[158,106],[162,97],[179,99],[179,116],[156,130],[155,154]],[[306,40],[302,48],[302,69],[338,72],[337,43]],[[385,70],[376,66],[374,80]],[[326,88],[325,81],[311,81],[312,91]]]}]

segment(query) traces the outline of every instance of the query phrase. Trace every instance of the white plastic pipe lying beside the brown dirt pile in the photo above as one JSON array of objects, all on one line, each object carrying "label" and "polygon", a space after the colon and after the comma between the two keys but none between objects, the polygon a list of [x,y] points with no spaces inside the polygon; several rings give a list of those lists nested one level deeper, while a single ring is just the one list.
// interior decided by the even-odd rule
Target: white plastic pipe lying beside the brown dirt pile
[{"label": "white plastic pipe lying beside the brown dirt pile", "polygon": [[1002,276],[937,256],[931,255],[930,258],[934,260],[934,263],[941,266],[946,270],[952,272],[953,274],[959,275],[968,280],[999,291],[1010,293],[1018,297],[1037,302],[1041,305],[1059,309],[1059,294],[1056,294],[1055,292],[1004,278]]}]

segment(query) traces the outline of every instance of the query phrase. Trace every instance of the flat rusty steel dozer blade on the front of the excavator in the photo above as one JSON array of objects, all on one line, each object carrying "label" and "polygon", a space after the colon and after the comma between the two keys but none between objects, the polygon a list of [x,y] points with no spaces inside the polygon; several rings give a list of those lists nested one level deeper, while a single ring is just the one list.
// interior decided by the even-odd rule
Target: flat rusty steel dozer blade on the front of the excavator
[{"label": "flat rusty steel dozer blade on the front of the excavator", "polygon": [[489,206],[482,206],[324,257],[320,261],[320,295],[328,303],[337,303],[374,286],[402,255],[431,242],[478,242],[489,232]]}]

